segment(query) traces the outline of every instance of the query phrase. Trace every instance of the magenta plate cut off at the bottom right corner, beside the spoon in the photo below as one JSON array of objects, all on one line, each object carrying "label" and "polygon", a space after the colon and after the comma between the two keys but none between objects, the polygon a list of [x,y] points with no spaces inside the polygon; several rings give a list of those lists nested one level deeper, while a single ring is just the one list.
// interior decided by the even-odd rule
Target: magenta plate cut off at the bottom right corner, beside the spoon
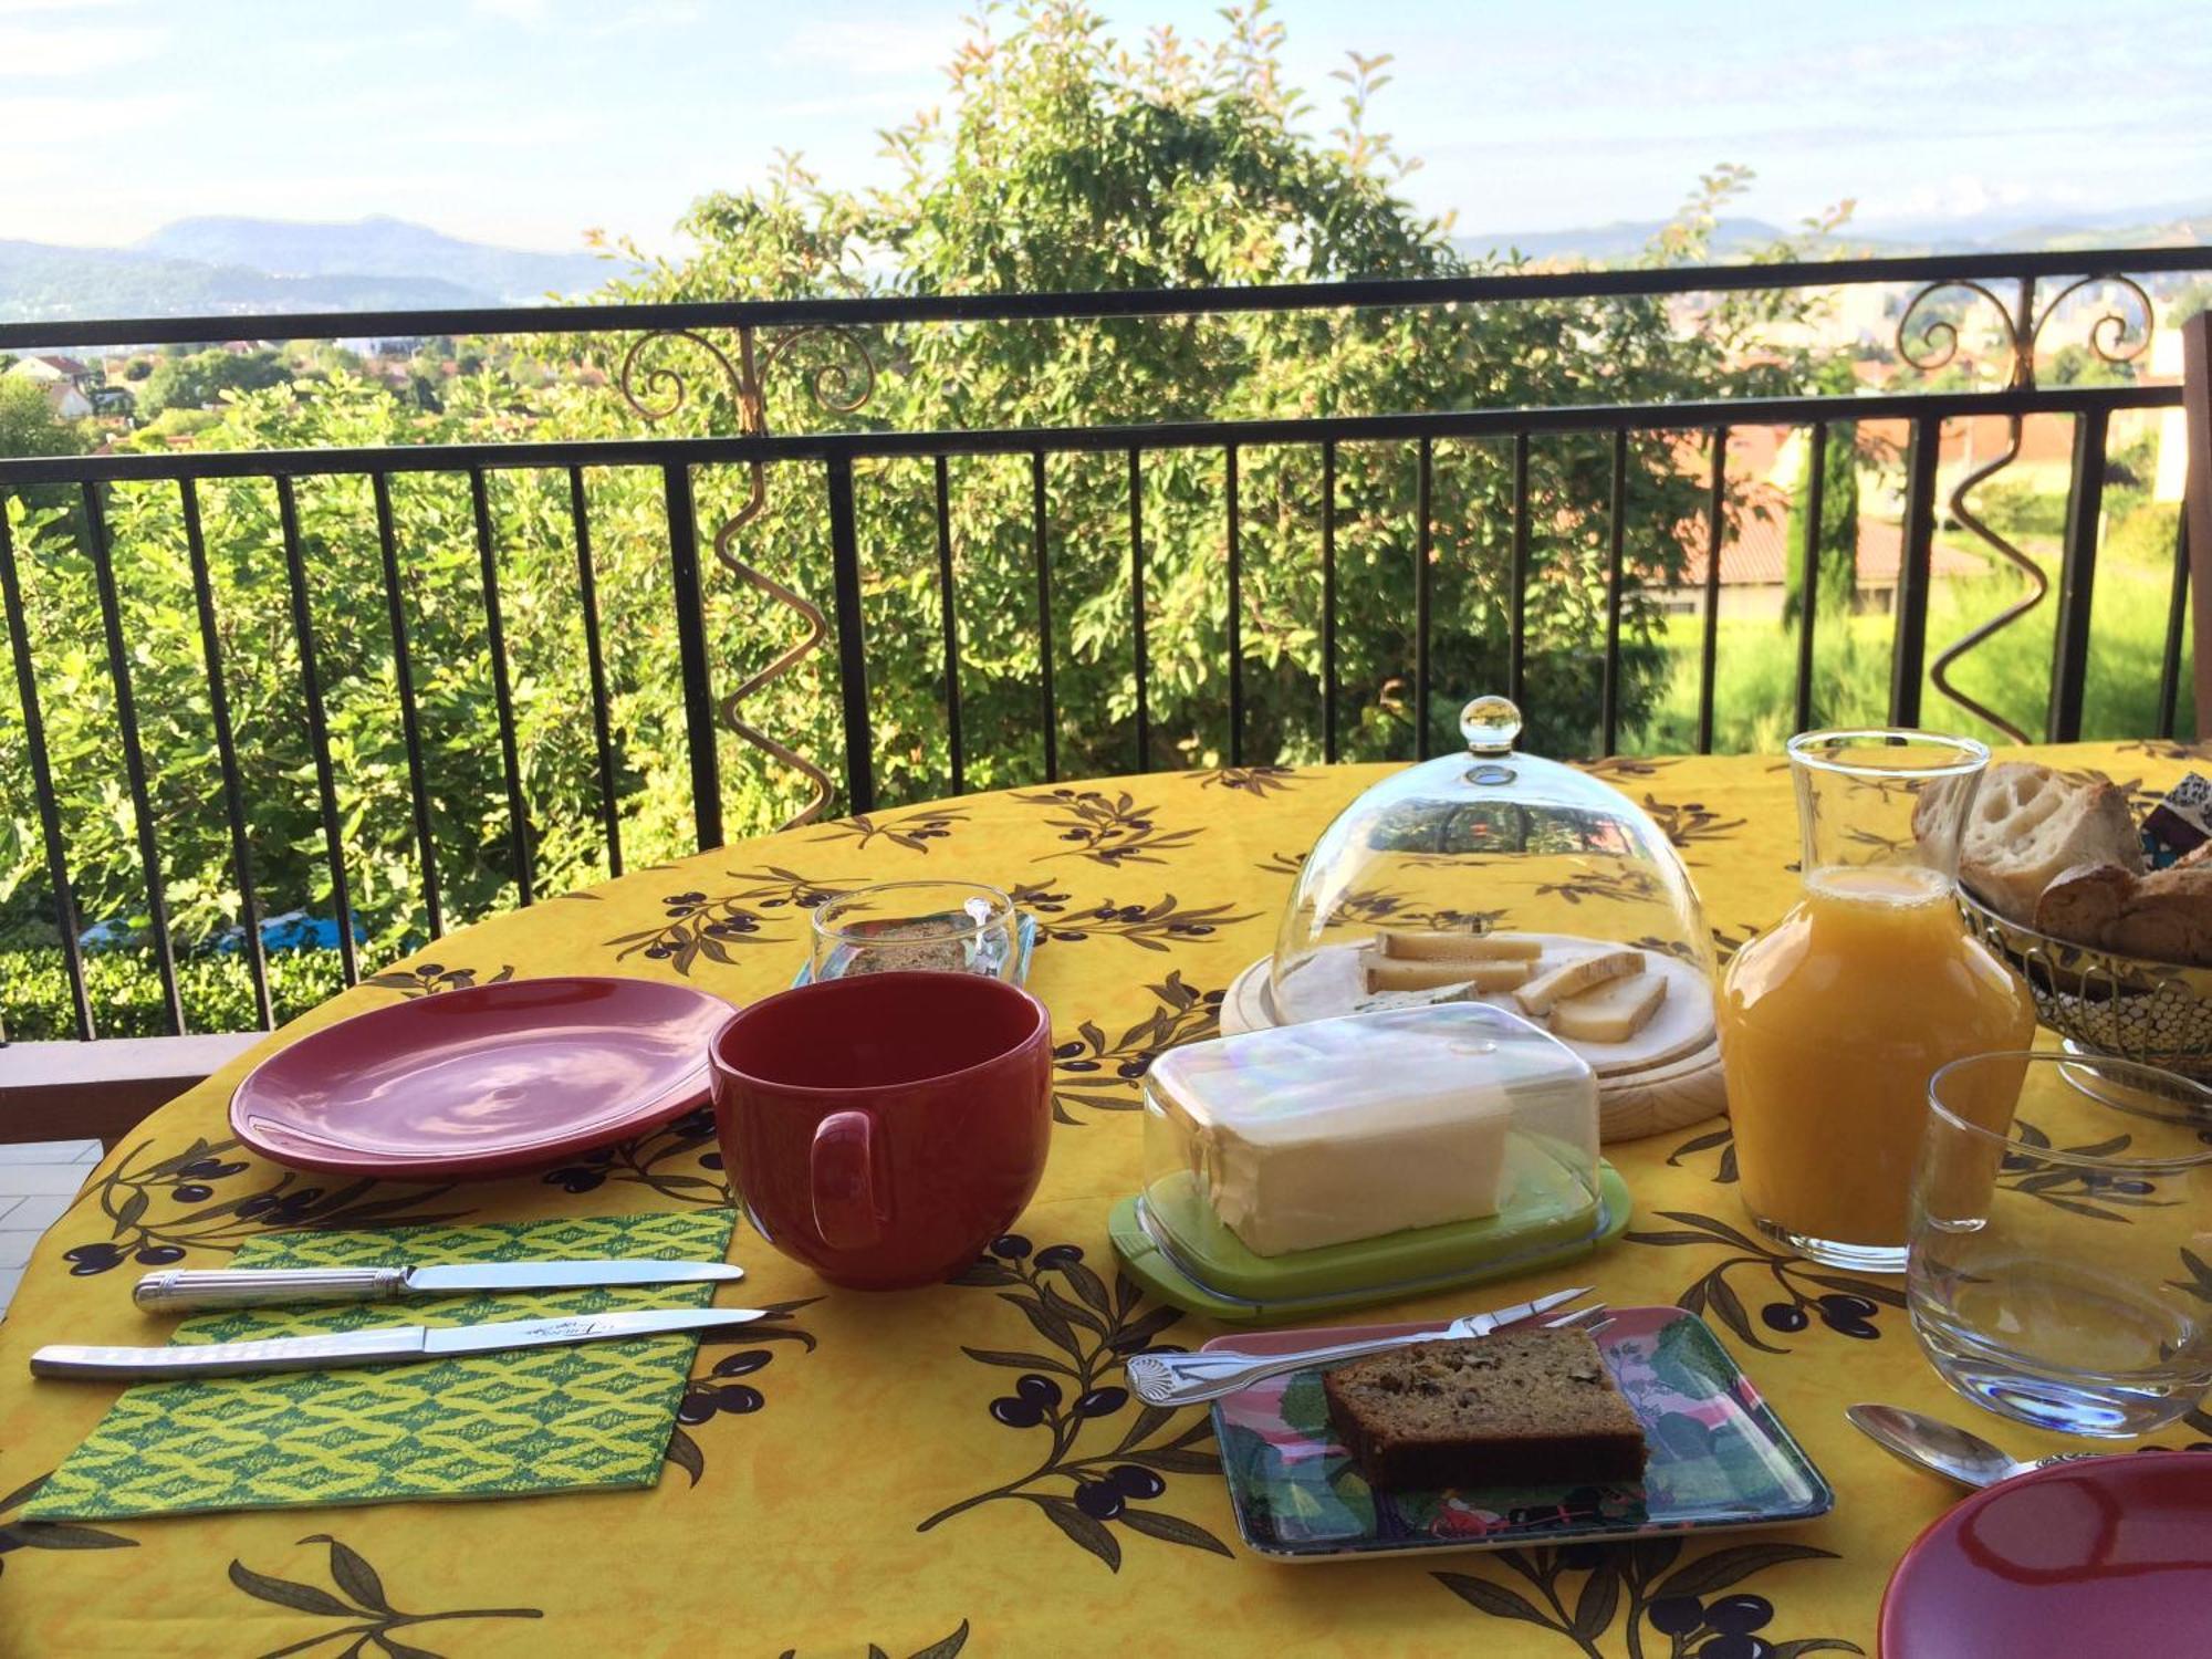
[{"label": "magenta plate cut off at the bottom right corner, beside the spoon", "polygon": [[1882,1597],[1882,1659],[2212,1652],[2212,1453],[2037,1469],[1929,1526]]}]

